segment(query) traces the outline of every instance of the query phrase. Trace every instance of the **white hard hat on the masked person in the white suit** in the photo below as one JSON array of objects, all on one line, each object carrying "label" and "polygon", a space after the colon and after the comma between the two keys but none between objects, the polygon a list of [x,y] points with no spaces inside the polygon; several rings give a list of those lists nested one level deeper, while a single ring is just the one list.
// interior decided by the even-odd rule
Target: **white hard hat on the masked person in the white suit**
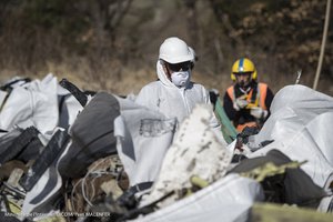
[{"label": "white hard hat on the masked person in the white suit", "polygon": [[176,37],[170,37],[161,44],[159,59],[174,64],[192,61],[194,57],[183,40]]}]

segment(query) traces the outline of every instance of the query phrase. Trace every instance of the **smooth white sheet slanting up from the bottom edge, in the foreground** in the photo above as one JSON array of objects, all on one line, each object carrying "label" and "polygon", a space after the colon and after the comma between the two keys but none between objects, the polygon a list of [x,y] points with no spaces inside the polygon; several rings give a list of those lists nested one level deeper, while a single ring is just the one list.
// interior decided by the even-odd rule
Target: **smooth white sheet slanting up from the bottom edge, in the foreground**
[{"label": "smooth white sheet slanting up from the bottom edge, in the foreground", "polygon": [[263,201],[261,185],[239,174],[229,174],[189,198],[132,222],[242,222],[249,209]]}]

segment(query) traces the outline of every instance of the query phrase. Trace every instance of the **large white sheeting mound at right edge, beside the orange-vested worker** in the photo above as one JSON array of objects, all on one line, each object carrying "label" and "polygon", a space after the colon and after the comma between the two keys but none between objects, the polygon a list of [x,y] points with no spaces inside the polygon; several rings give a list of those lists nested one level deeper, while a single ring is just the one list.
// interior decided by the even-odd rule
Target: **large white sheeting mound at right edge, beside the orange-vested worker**
[{"label": "large white sheeting mound at right edge, beside the orange-vested worker", "polygon": [[274,140],[248,154],[265,155],[276,149],[295,161],[307,162],[301,168],[321,188],[327,186],[333,173],[333,98],[304,85],[281,89],[271,105],[271,117],[249,144]]}]

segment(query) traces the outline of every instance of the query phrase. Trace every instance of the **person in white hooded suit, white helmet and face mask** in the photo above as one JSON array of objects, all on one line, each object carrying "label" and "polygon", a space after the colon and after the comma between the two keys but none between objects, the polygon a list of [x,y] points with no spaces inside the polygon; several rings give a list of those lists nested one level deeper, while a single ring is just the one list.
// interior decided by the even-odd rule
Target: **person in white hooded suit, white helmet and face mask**
[{"label": "person in white hooded suit, white helmet and face mask", "polygon": [[[181,39],[171,37],[160,47],[157,62],[158,81],[143,87],[135,102],[163,113],[167,118],[176,118],[181,123],[195,104],[210,104],[208,90],[191,82],[191,69],[194,54]],[[212,111],[210,125],[219,140],[226,145],[221,133],[221,125]]]}]

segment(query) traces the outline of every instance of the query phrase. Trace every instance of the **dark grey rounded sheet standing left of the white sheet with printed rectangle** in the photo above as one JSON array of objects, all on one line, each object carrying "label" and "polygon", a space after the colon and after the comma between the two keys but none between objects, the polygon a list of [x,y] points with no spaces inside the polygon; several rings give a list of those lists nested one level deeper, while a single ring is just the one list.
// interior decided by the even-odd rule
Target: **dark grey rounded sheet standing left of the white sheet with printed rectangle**
[{"label": "dark grey rounded sheet standing left of the white sheet with printed rectangle", "polygon": [[70,128],[72,145],[59,163],[65,178],[80,178],[100,158],[115,154],[113,121],[119,117],[117,99],[107,92],[97,93]]}]

